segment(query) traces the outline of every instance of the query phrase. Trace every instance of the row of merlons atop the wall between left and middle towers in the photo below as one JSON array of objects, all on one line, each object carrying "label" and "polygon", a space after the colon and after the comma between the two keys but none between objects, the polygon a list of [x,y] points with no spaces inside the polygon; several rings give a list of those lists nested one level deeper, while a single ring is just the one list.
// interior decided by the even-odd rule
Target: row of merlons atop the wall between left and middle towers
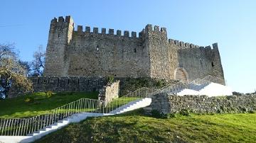
[{"label": "row of merlons atop the wall between left and middle towers", "polygon": [[113,35],[117,37],[124,37],[124,38],[142,38],[144,35],[144,31],[139,33],[137,36],[137,32],[132,31],[132,33],[129,32],[129,30],[124,30],[122,33],[122,30],[116,30],[114,33],[114,29],[109,28],[108,30],[106,28],[101,28],[101,31],[99,28],[91,28],[89,26],[85,26],[85,30],[83,29],[82,25],[78,25],[77,30],[74,31],[75,33],[78,33],[78,35],[88,35],[88,34],[94,34],[94,35]]}]

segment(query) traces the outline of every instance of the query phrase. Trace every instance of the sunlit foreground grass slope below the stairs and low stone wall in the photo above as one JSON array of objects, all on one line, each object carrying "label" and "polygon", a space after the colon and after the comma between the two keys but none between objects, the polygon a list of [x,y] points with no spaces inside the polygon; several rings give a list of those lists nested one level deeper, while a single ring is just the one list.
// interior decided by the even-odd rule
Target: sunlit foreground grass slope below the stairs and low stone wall
[{"label": "sunlit foreground grass slope below the stairs and low stone wall", "polygon": [[136,110],[88,118],[36,142],[256,142],[255,118],[242,113],[157,119]]}]

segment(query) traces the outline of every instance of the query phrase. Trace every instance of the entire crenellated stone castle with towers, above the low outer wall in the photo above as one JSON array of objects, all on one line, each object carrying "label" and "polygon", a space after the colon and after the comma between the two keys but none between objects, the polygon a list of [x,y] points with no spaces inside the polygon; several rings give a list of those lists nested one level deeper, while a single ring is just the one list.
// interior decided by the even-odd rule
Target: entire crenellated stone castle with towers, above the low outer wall
[{"label": "entire crenellated stone castle with towers, above the low outer wall", "polygon": [[[136,32],[114,33],[53,18],[46,48],[45,76],[151,77],[191,81],[212,75],[224,79],[218,44],[199,47],[167,38],[166,28],[146,25]],[[225,84],[225,83],[223,83]]]}]

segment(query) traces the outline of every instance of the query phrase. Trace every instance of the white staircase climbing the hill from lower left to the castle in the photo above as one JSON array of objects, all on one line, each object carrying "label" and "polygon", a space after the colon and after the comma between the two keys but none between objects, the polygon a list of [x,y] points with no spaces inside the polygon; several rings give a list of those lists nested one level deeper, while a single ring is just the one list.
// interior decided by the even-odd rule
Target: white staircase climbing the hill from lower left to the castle
[{"label": "white staircase climbing the hill from lower left to the castle", "polygon": [[[179,83],[181,84],[181,83]],[[125,113],[131,110],[136,110],[138,108],[144,108],[151,104],[151,96],[159,93],[174,93],[177,96],[183,95],[207,95],[207,96],[222,96],[222,95],[232,95],[232,91],[229,87],[223,86],[222,84],[215,84],[209,81],[202,82],[198,80],[196,82],[191,82],[188,84],[182,84],[176,86],[166,86],[159,90],[150,89],[150,88],[141,88],[138,91],[129,93],[127,98],[134,98],[134,101],[126,102],[124,105],[114,108],[110,111],[105,111],[101,113],[99,110],[96,113],[80,112],[74,113],[73,115],[63,118],[63,120],[58,120],[47,127],[43,127],[41,130],[32,132],[26,136],[0,136],[0,142],[5,143],[14,143],[14,142],[33,142],[36,139],[39,139],[45,135],[48,135],[50,132],[55,132],[66,125],[73,122],[80,122],[85,120],[88,117],[99,117],[105,115],[117,115]],[[143,94],[142,94],[143,93]],[[117,102],[118,103],[118,102]]]}]

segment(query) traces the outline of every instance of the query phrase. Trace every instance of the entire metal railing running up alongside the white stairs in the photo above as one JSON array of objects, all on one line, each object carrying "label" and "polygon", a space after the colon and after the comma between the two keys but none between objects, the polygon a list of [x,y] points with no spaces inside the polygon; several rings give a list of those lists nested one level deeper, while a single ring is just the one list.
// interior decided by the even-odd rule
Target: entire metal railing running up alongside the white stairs
[{"label": "entire metal railing running up alongside the white stairs", "polygon": [[[206,76],[207,77],[207,76]],[[208,77],[209,78],[209,77]],[[212,77],[210,77],[212,78]],[[219,80],[219,79],[218,79]],[[210,81],[204,79],[195,79],[188,83],[178,82],[171,86],[163,88],[139,88],[126,96],[114,99],[112,102],[104,105],[101,101],[81,98],[66,105],[60,106],[44,115],[37,115],[32,118],[0,118],[0,135],[4,136],[24,136],[53,125],[59,120],[68,118],[75,113],[108,113],[112,114],[122,105],[138,101],[142,98],[151,98],[157,93],[178,93],[183,88],[196,89],[203,84],[209,84]]]}]

